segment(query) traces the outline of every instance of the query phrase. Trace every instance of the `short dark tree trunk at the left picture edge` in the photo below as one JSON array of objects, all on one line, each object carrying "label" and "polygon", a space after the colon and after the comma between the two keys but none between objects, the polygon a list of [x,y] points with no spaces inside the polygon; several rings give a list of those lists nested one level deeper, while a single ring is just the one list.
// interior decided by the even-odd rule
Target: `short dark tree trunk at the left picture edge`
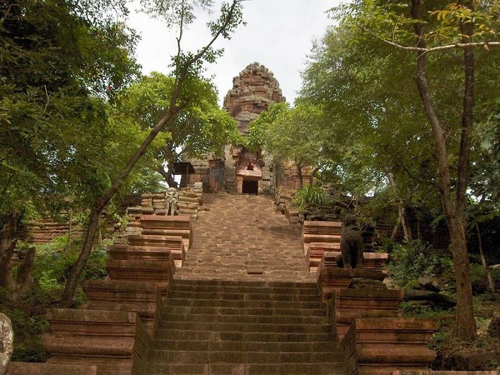
[{"label": "short dark tree trunk at the left picture edge", "polygon": [[6,223],[0,230],[0,286],[11,293],[15,289],[11,259],[16,249],[19,219],[21,219],[21,212],[10,211],[6,217]]}]

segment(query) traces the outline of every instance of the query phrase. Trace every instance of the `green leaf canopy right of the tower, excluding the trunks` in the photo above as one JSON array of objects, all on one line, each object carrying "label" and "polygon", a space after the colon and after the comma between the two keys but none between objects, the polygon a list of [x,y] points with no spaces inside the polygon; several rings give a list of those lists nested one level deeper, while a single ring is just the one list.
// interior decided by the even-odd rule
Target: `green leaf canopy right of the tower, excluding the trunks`
[{"label": "green leaf canopy right of the tower, excluding the trunks", "polygon": [[[498,3],[478,3],[474,14],[464,14],[464,8],[453,1],[426,1],[429,47],[461,41],[456,17],[474,17],[477,40],[490,38],[498,26]],[[384,178],[389,172],[397,181],[399,196],[416,206],[440,211],[433,140],[414,83],[416,52],[387,42],[416,44],[409,1],[353,1],[333,9],[331,15],[339,25],[315,44],[299,98],[321,106],[329,119],[330,144],[332,148],[337,145],[338,158],[330,165],[333,168],[324,169],[324,178],[343,181],[338,186],[344,191],[362,191],[363,186],[369,186],[369,190],[389,194]],[[498,166],[491,136],[499,108],[500,71],[495,63],[499,51],[477,49],[475,53],[476,126],[471,158],[477,168],[473,168],[471,186],[485,193],[498,191],[491,184],[491,174],[481,171]],[[458,159],[461,131],[461,54],[449,49],[427,55],[429,84],[447,134],[452,164]],[[490,156],[485,158],[485,153]]]}]

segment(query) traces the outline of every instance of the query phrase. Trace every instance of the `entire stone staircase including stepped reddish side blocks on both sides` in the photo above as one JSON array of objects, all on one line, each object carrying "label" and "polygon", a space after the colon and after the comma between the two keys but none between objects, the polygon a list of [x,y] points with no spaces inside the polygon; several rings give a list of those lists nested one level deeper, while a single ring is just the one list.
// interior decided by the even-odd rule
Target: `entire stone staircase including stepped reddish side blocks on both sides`
[{"label": "entire stone staircase including stepped reddish side blocks on both sides", "polygon": [[[399,318],[400,291],[346,289],[354,279],[380,284],[386,258],[339,269],[330,245],[338,234],[320,233],[332,224],[309,223],[301,238],[266,196],[207,194],[205,202],[196,223],[140,216],[140,235],[109,246],[109,278],[84,283],[85,309],[47,311],[49,363],[15,364],[9,374],[67,374],[67,366],[85,375],[428,369],[435,321]],[[321,256],[316,273],[304,256],[311,248]]]}]

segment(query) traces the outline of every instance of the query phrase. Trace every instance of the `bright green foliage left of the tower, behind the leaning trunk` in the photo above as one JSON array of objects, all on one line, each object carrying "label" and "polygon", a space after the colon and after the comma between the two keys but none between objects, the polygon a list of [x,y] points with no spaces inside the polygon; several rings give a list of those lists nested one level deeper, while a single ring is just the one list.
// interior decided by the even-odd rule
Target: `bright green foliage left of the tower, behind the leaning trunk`
[{"label": "bright green foliage left of the tower, behind the leaning trunk", "polygon": [[[174,77],[152,73],[129,86],[114,103],[116,121],[136,123],[142,129],[156,124],[169,108]],[[240,143],[236,121],[219,109],[214,87],[204,80],[193,80],[190,102],[163,129],[168,135],[164,146],[156,149],[158,171],[169,186],[176,186],[174,164],[182,156],[201,157],[221,154],[224,145]],[[164,168],[166,164],[166,170]]]}]

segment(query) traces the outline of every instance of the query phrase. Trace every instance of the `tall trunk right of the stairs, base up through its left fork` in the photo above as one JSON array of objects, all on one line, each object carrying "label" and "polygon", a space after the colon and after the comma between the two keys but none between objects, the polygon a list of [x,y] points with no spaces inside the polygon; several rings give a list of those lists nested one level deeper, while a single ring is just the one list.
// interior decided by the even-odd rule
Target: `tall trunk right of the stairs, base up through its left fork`
[{"label": "tall trunk right of the stairs, base up through its left fork", "polygon": [[[417,21],[414,24],[418,36],[418,46],[425,48],[424,28],[420,21],[420,0],[411,0],[411,16]],[[426,54],[417,53],[416,86],[419,89],[427,119],[431,124],[434,136],[434,151],[439,164],[439,195],[443,206],[446,223],[450,234],[450,250],[453,257],[456,277],[456,337],[464,341],[476,338],[476,321],[472,306],[471,274],[469,271],[469,254],[467,253],[464,220],[461,216],[460,204],[456,206],[451,200],[451,178],[449,172],[448,151],[444,131],[434,111],[429,84],[427,83]],[[461,146],[462,148],[462,146]],[[463,156],[460,156],[463,159]],[[458,184],[458,182],[457,182]],[[459,186],[457,186],[459,187]]]}]

